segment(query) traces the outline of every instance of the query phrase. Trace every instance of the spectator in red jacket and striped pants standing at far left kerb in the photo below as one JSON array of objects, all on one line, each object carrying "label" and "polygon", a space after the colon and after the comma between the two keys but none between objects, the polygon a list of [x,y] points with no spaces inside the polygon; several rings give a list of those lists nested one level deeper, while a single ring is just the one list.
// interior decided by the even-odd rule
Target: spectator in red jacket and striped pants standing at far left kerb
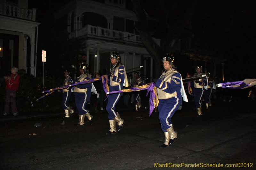
[{"label": "spectator in red jacket and striped pants standing at far left kerb", "polygon": [[12,114],[14,116],[18,115],[18,110],[16,107],[16,91],[19,88],[20,85],[20,75],[18,75],[18,68],[17,67],[12,67],[11,68],[11,75],[9,76],[4,76],[6,86],[6,99],[5,99],[5,106],[4,106],[4,115],[9,114],[9,108],[10,108],[10,103],[12,107]]}]

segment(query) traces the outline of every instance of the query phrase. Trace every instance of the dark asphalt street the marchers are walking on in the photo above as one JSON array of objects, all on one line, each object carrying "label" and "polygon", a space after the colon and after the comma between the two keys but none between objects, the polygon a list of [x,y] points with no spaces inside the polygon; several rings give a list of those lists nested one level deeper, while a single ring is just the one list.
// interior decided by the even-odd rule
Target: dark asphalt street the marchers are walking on
[{"label": "dark asphalt street the marchers are walking on", "polygon": [[105,110],[92,111],[94,124],[79,127],[74,125],[77,112],[71,118],[63,118],[64,112],[1,115],[0,169],[255,169],[255,103],[243,97],[230,103],[215,100],[209,109],[203,106],[201,119],[192,101],[183,103],[172,117],[178,138],[164,149],[159,148],[164,133],[158,112],[149,117],[148,109],[136,112],[132,104],[117,107],[125,122],[113,135],[105,135]]}]

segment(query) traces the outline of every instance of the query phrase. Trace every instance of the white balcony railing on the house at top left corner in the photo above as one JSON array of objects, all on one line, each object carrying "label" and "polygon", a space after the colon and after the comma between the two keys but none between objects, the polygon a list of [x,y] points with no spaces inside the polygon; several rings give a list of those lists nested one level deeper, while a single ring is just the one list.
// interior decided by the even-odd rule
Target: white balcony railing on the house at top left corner
[{"label": "white balcony railing on the house at top left corner", "polygon": [[0,4],[0,14],[10,16],[10,17],[16,17],[16,18],[22,18],[22,19],[36,21],[36,9],[35,8],[33,8],[32,10],[27,10],[27,9],[23,9],[23,8],[18,8],[16,6]]}]

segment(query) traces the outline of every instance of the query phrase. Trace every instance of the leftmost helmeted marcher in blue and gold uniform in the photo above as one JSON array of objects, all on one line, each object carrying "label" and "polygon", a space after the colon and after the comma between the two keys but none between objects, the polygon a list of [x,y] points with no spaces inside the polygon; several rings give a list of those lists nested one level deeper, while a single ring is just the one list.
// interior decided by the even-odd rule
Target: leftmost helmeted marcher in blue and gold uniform
[{"label": "leftmost helmeted marcher in blue and gold uniform", "polygon": [[[65,71],[65,77],[66,77],[66,79],[64,80],[63,86],[71,85],[73,83],[73,80],[70,78],[68,71]],[[62,107],[63,107],[63,109],[65,109],[65,117],[69,117],[70,116],[69,114],[74,113],[74,110],[68,104],[68,101],[71,97],[71,89],[72,89],[72,87],[63,89]]]}]

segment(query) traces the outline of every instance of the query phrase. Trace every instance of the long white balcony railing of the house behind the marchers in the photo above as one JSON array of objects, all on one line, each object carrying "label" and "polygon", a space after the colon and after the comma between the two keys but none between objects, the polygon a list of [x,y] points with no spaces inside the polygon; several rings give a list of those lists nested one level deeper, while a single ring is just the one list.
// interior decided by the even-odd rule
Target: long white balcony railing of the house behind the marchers
[{"label": "long white balcony railing of the house behind the marchers", "polygon": [[[122,39],[124,41],[130,41],[130,42],[142,44],[140,35],[128,33],[128,32],[110,30],[110,29],[99,27],[99,26],[91,26],[91,25],[86,25],[85,27],[70,33],[69,38],[81,37],[84,35],[95,35],[98,37],[105,37],[105,38],[111,38],[111,39]],[[160,39],[153,38],[153,40],[160,46]]]}]

